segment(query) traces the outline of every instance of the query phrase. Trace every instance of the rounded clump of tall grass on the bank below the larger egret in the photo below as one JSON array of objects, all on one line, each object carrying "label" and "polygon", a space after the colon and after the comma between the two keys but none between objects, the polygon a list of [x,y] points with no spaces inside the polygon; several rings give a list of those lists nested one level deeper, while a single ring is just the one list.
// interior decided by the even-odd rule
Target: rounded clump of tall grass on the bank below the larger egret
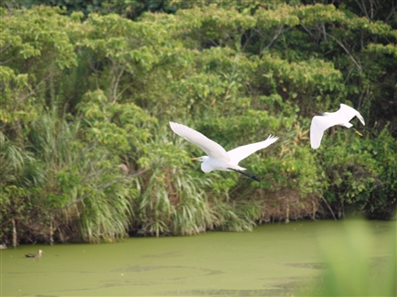
[{"label": "rounded clump of tall grass on the bank below the larger egret", "polygon": [[181,168],[157,168],[141,183],[144,187],[134,209],[142,232],[191,235],[210,228],[206,179],[194,179]]}]

